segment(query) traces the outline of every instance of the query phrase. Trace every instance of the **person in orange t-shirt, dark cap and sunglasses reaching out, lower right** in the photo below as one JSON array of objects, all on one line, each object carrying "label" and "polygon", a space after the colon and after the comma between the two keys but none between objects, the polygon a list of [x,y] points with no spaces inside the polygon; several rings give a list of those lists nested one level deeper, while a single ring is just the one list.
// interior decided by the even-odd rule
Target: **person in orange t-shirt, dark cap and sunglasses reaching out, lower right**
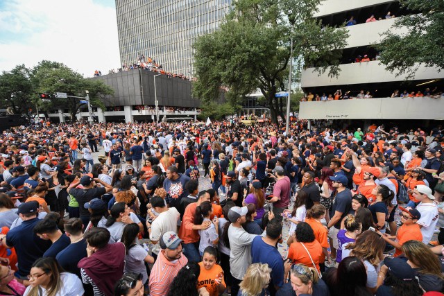
[{"label": "person in orange t-shirt, dark cap and sunglasses reaching out, lower right", "polygon": [[[402,245],[406,241],[422,241],[421,229],[416,222],[421,218],[420,212],[412,207],[400,207],[402,226],[398,229],[396,236],[382,234],[378,231],[386,243],[393,245],[396,248],[395,257],[402,254]],[[393,241],[395,239],[395,241]]]}]

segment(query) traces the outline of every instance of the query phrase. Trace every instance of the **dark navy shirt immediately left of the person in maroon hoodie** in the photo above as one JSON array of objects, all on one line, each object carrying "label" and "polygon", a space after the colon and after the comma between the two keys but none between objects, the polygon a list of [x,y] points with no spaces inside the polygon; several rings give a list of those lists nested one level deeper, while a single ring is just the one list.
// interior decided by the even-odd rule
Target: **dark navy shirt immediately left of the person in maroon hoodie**
[{"label": "dark navy shirt immediately left of the person in maroon hoodie", "polygon": [[64,250],[60,251],[57,254],[56,260],[64,270],[81,277],[80,268],[77,267],[77,264],[78,261],[87,256],[86,247],[87,243],[85,238],[83,238],[81,241],[78,241],[77,243],[71,243],[70,245],[65,247]]}]

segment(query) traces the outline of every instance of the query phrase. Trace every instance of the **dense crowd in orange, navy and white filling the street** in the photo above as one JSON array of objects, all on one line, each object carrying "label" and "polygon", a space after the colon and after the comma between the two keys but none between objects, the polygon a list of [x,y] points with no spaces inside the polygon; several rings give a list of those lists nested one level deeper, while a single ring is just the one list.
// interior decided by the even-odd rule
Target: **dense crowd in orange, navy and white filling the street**
[{"label": "dense crowd in orange, navy and white filling the street", "polygon": [[3,131],[0,295],[443,295],[442,126],[283,130]]}]

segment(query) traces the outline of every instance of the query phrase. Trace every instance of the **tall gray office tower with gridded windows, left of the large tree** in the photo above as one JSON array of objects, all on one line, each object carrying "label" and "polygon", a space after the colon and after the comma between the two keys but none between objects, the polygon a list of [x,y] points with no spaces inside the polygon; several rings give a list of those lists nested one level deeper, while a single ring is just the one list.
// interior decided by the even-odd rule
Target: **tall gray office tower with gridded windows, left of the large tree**
[{"label": "tall gray office tower with gridded windows, left of the large tree", "polygon": [[212,33],[232,0],[116,0],[120,60],[133,64],[143,53],[165,71],[193,75],[196,37]]}]

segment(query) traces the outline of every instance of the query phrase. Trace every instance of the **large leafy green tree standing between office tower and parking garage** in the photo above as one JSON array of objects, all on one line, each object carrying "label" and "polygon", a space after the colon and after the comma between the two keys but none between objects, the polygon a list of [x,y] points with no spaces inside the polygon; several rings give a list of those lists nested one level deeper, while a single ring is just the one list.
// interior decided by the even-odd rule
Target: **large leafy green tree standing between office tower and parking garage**
[{"label": "large leafy green tree standing between office tower and parking garage", "polygon": [[271,119],[284,119],[284,102],[275,94],[285,89],[291,40],[293,56],[315,64],[319,73],[339,73],[339,49],[345,28],[322,27],[313,15],[321,0],[238,0],[225,22],[194,44],[194,96],[204,104],[219,98],[221,87],[236,96],[260,89]]}]

